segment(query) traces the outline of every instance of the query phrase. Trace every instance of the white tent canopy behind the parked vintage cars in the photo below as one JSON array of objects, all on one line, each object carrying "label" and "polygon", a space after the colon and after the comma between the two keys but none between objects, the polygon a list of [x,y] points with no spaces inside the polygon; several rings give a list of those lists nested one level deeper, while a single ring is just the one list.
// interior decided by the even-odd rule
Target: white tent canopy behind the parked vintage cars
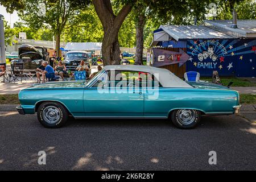
[{"label": "white tent canopy behind the parked vintage cars", "polygon": [[101,42],[69,42],[65,46],[67,51],[100,51]]}]

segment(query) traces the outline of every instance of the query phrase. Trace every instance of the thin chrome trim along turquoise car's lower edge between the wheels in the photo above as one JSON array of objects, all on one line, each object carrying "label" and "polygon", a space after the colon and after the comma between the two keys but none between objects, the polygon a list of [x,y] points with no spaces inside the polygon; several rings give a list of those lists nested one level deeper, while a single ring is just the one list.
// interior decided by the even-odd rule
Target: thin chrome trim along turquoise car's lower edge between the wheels
[{"label": "thin chrome trim along turquoise car's lower edge between the wheels", "polygon": [[94,118],[98,118],[98,119],[118,119],[118,118],[122,118],[122,119],[167,119],[167,117],[138,117],[138,116],[76,116],[74,117],[75,119],[86,119],[86,118],[90,118],[90,119],[94,119]]}]

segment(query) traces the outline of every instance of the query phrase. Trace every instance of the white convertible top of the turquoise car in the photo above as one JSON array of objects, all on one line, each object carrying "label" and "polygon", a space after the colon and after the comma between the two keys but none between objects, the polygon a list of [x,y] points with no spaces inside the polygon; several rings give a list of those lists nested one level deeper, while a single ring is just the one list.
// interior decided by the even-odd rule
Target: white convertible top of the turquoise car
[{"label": "white convertible top of the turquoise car", "polygon": [[145,65],[107,65],[104,67],[106,71],[137,71],[151,73],[156,77],[156,73],[159,74],[158,80],[163,87],[169,88],[193,88],[187,82],[181,80],[175,76],[174,73],[168,69],[150,67]]}]

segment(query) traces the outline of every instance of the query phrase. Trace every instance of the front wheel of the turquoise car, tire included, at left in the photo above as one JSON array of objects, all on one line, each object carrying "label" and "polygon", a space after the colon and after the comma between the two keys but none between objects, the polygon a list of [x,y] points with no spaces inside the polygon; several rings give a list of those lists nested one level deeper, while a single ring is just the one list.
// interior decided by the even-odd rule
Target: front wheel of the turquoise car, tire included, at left
[{"label": "front wheel of the turquoise car, tire included, at left", "polygon": [[47,128],[61,127],[68,120],[65,107],[56,102],[43,102],[38,107],[38,120]]}]

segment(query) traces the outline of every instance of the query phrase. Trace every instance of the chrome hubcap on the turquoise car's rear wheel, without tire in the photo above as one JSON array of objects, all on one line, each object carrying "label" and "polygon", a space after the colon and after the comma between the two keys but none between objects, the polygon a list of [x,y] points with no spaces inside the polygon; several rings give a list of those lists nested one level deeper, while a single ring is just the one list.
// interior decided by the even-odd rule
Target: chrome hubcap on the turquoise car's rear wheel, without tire
[{"label": "chrome hubcap on the turquoise car's rear wheel, without tire", "polygon": [[196,119],[194,110],[181,109],[177,113],[177,119],[183,125],[190,125]]}]

